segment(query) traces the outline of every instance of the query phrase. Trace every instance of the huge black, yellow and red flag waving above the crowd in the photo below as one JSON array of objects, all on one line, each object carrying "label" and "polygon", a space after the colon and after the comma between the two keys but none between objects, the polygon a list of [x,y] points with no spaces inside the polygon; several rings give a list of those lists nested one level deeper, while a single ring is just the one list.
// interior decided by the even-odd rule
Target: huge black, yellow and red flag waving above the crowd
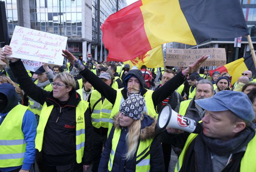
[{"label": "huge black, yellow and red flag waving above the crowd", "polygon": [[102,25],[108,61],[127,61],[163,43],[197,45],[248,35],[240,0],[139,0]]}]

